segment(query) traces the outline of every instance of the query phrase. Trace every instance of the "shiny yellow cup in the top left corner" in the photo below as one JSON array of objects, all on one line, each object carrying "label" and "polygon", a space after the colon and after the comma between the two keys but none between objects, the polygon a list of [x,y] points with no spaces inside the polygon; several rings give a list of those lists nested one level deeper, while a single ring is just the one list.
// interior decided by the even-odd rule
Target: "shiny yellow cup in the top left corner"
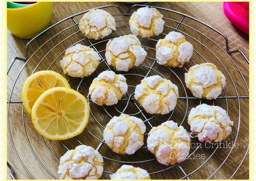
[{"label": "shiny yellow cup in the top left corner", "polygon": [[15,36],[30,39],[47,28],[52,2],[37,2],[27,7],[7,8],[7,29]]}]

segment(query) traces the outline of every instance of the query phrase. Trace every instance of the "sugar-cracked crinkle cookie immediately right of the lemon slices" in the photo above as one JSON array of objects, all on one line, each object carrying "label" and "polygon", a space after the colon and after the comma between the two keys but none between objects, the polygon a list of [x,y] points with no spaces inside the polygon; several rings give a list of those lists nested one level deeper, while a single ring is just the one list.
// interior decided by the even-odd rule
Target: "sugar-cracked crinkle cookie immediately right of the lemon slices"
[{"label": "sugar-cracked crinkle cookie immediately right of the lemon slices", "polygon": [[127,89],[126,78],[108,70],[101,72],[98,77],[93,79],[89,95],[92,102],[98,105],[113,105],[117,104],[118,100],[126,94]]}]

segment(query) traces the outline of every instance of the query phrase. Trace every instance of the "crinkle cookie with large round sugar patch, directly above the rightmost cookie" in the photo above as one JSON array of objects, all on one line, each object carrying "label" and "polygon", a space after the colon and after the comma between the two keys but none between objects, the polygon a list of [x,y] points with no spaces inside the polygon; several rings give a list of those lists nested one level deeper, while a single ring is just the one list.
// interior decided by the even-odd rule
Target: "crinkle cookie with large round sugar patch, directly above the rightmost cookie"
[{"label": "crinkle cookie with large round sugar patch, directly above the rightmost cookie", "polygon": [[226,78],[214,64],[203,63],[190,67],[185,83],[195,97],[216,99],[226,85]]}]

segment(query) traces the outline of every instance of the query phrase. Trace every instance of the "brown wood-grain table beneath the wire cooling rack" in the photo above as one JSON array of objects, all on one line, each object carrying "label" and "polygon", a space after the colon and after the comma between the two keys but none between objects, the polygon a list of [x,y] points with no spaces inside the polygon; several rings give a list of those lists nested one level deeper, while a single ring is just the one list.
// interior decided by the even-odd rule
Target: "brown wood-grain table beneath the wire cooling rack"
[{"label": "brown wood-grain table beneath the wire cooling rack", "polygon": [[[53,11],[52,11],[52,17],[50,21],[50,25],[58,22],[59,20],[68,17],[70,15],[73,15],[75,13],[91,9],[93,7],[97,6],[103,6],[107,4],[117,4],[121,7],[121,9],[126,12],[129,7],[124,6],[120,3],[107,3],[107,2],[56,2],[54,3]],[[152,5],[165,7],[171,10],[175,10],[178,12],[182,12],[184,14],[190,15],[192,17],[195,17],[210,26],[216,28],[217,30],[224,33],[228,39],[229,39],[229,48],[230,50],[236,50],[240,49],[242,50],[246,56],[249,56],[249,38],[247,35],[243,34],[241,31],[236,29],[225,17],[223,10],[222,10],[222,3],[220,2],[157,2],[153,3]],[[106,9],[111,14],[118,14],[119,11],[116,8],[108,8]],[[132,10],[134,11],[134,10]],[[164,11],[160,11],[164,17],[171,18],[174,20],[179,21],[181,19],[180,15],[174,14],[174,13],[168,13]],[[130,16],[115,16],[116,19],[129,19]],[[79,21],[81,16],[76,17],[75,19]],[[171,27],[176,27],[177,22],[165,20],[166,25]],[[211,29],[202,26],[200,23],[190,20],[189,18],[185,18],[183,23],[188,24],[192,26],[193,28],[205,33],[208,35],[216,44],[218,44],[221,48],[223,48],[226,51],[226,44],[225,39],[220,36],[220,34],[212,31]],[[60,25],[50,29],[47,33],[43,34],[39,38],[37,38],[35,41],[31,43],[29,46],[28,55],[30,56],[37,48],[39,48],[44,42],[46,42],[47,39],[54,36],[57,32],[61,31],[62,29],[71,26],[74,24],[72,20],[68,20],[64,23],[61,23]],[[124,22],[118,22],[117,23],[117,29],[120,28],[129,28],[129,24],[127,21]],[[189,36],[186,36],[186,39],[190,41],[194,49],[200,53],[205,59],[209,62],[214,63],[217,65],[217,67],[224,73],[224,75],[227,78],[227,85],[225,87],[225,92],[227,96],[236,96],[236,91],[234,88],[234,85],[232,83],[232,80],[230,79],[227,71],[224,69],[223,65],[227,68],[228,72],[230,73],[232,79],[234,80],[234,83],[236,85],[238,95],[239,96],[248,96],[249,93],[247,92],[246,85],[240,75],[240,72],[237,68],[235,68],[234,64],[231,62],[231,60],[228,58],[228,56],[214,43],[212,43],[209,39],[203,37],[198,32],[185,27],[181,24],[179,27],[180,31],[183,31],[198,40],[194,40],[193,38],[190,38]],[[31,74],[33,69],[36,67],[36,65],[39,63],[41,59],[43,59],[44,55],[51,50],[52,47],[54,47],[57,43],[59,43],[61,40],[66,38],[67,36],[71,35],[72,33],[78,31],[78,28],[74,26],[73,28],[70,28],[67,31],[64,31],[57,35],[55,38],[53,38],[50,42],[48,42],[45,46],[43,46],[42,49],[40,49],[28,62],[28,64],[25,66],[24,70],[21,72],[17,83],[14,87],[13,94],[11,100],[21,100],[21,89],[24,81],[26,78]],[[164,28],[164,33],[168,33],[170,30],[169,28]],[[124,34],[129,34],[130,31],[116,31],[113,32],[111,35],[109,35],[107,38],[117,37]],[[160,35],[158,37],[153,37],[153,39],[159,39],[163,38],[164,35]],[[63,40],[63,43],[57,46],[54,50],[50,51],[49,54],[45,57],[45,59],[42,61],[42,63],[38,66],[37,70],[45,70],[49,67],[50,63],[56,59],[56,57],[61,54],[67,47],[72,45],[73,43],[77,42],[78,40],[84,38],[80,32],[76,33],[74,36],[67,38],[66,40]],[[104,39],[107,39],[104,38]],[[18,57],[24,57],[25,53],[25,46],[28,43],[29,40],[25,39],[19,39],[15,36],[13,36],[10,32],[7,32],[7,61],[8,65],[12,61],[12,59],[15,56]],[[94,43],[96,41],[92,41]],[[211,52],[206,49],[203,45],[201,45],[199,42],[202,42],[204,45],[206,45],[209,50],[211,50],[214,54],[217,55],[217,57],[223,62],[223,65],[214,57]],[[84,45],[90,45],[87,40],[84,40],[81,42]],[[156,42],[155,41],[149,41],[145,39],[141,39],[142,46],[148,46],[148,47],[155,47]],[[97,45],[96,48],[100,50],[104,50],[105,43],[102,43],[100,45]],[[155,58],[155,52],[151,49],[147,49],[148,56]],[[196,63],[203,63],[205,62],[204,59],[197,53],[194,52],[192,60]],[[103,57],[104,52],[102,53]],[[29,57],[28,56],[28,57]],[[236,65],[239,67],[239,69],[242,72],[242,75],[244,76],[245,81],[247,84],[249,83],[249,64],[243,59],[240,53],[234,53],[230,55],[231,58],[234,60]],[[60,65],[59,60],[61,60],[60,56],[56,63],[50,68],[51,70],[59,71]],[[152,64],[153,60],[146,59],[143,63],[145,66],[150,66]],[[11,89],[13,86],[14,81],[16,80],[16,77],[18,75],[19,70],[21,69],[22,65],[24,65],[25,62],[22,61],[16,61],[9,72],[9,75],[7,77],[7,90],[8,95],[7,98],[9,99]],[[187,63],[184,67],[188,69],[193,65],[193,62],[190,61]],[[185,97],[185,91],[182,87],[182,83],[184,83],[184,73],[186,70],[184,68],[171,68],[172,71],[176,73],[176,75],[180,78],[176,77],[174,73],[172,73],[167,67],[160,66],[156,64],[154,68],[158,71],[160,71],[164,76],[166,76],[168,79],[170,79],[173,83],[175,83],[179,87],[179,96]],[[92,81],[93,78],[97,76],[97,74],[103,70],[106,70],[107,66],[102,63],[99,65],[97,70],[88,78],[86,78],[84,81],[82,81],[81,86],[79,87],[78,91],[84,95],[88,94],[88,87]],[[141,73],[141,75],[146,75],[148,71],[147,67],[137,67],[129,71],[129,73]],[[121,72],[125,73],[125,72]],[[151,71],[150,75],[157,74],[155,71]],[[70,78],[68,76],[65,76],[66,78]],[[129,85],[136,85],[139,83],[138,76],[126,76],[127,83]],[[70,78],[70,83],[72,88],[77,88],[77,85],[79,84],[81,79],[75,79]],[[189,97],[193,97],[192,94],[185,89]],[[129,88],[129,92],[133,92],[133,88]],[[224,96],[222,93],[221,96]],[[238,165],[240,164],[244,153],[247,149],[247,145],[249,143],[249,98],[241,98],[240,100],[240,110],[241,110],[241,121],[240,121],[240,129],[239,134],[237,137],[237,143],[239,143],[239,148],[234,148],[231,154],[229,155],[226,162],[223,164],[223,166],[219,169],[219,171],[216,172],[211,178],[212,179],[228,179],[236,170]],[[232,133],[228,138],[225,139],[227,143],[230,143],[231,141],[235,140],[237,130],[238,130],[238,117],[239,117],[239,106],[238,106],[238,100],[237,99],[228,99],[228,114],[231,118],[231,120],[234,121],[234,126],[232,127]],[[189,99],[188,100],[188,111],[197,104],[199,104],[198,99]],[[201,103],[208,103],[213,104],[212,101],[206,101],[201,100]],[[215,105],[222,106],[224,109],[226,109],[226,101],[225,99],[217,99],[214,101]],[[110,117],[106,114],[106,112],[103,110],[102,107],[96,106],[95,104],[90,104],[91,109],[93,110],[94,115],[101,121],[103,125],[106,125],[109,121]],[[118,109],[121,110],[125,105],[124,101],[120,101],[118,103]],[[132,114],[137,112],[137,108],[131,104],[129,105],[131,108],[127,112],[127,114]],[[95,111],[97,110],[97,111]],[[117,111],[113,107],[107,108],[109,112],[111,112],[112,115],[118,115]],[[178,124],[181,124],[183,117],[185,115],[186,110],[186,99],[179,99],[177,102],[177,106],[175,108],[174,114],[172,115],[171,119],[178,122]],[[146,114],[148,117],[150,115]],[[79,141],[83,144],[90,145],[94,148],[99,145],[99,141],[95,139],[87,130],[85,130],[83,133],[78,135],[76,138],[69,139],[67,141],[63,142],[56,142],[56,141],[48,141],[47,139],[42,139],[41,136],[34,130],[31,118],[30,116],[24,111],[24,120],[22,120],[22,104],[21,103],[11,103],[10,105],[10,130],[12,133],[13,143],[15,145],[15,148],[17,150],[17,153],[19,154],[19,157],[21,161],[24,163],[25,167],[29,170],[31,175],[35,179],[52,179],[50,174],[43,168],[42,165],[37,161],[37,159],[34,157],[34,154],[38,157],[40,162],[48,169],[48,171],[57,177],[57,168],[58,168],[58,161],[56,159],[59,159],[61,155],[63,155],[66,152],[66,148],[63,146],[65,144],[69,149],[73,149],[75,146],[79,145]],[[164,115],[164,116],[155,116],[151,121],[151,124],[153,126],[157,126],[161,124],[161,122],[168,119],[170,115]],[[141,117],[141,115],[138,115],[138,117]],[[141,117],[142,118],[142,117]],[[187,114],[185,116],[184,122],[182,125],[186,130],[189,130],[190,127],[187,124]],[[24,121],[24,124],[23,124]],[[24,128],[26,129],[26,133],[24,131]],[[95,136],[102,139],[102,132],[103,129],[96,124],[96,121],[93,119],[92,116],[90,116],[89,124],[87,126],[87,129],[95,134]],[[150,127],[147,125],[147,131],[150,130]],[[26,137],[27,136],[27,137]],[[28,141],[31,144],[31,148],[33,149],[34,153],[31,151]],[[146,139],[145,139],[146,140]],[[44,143],[44,142],[45,143]],[[192,139],[193,143],[197,143],[197,139]],[[47,150],[47,147],[45,144],[49,147],[50,151],[56,156],[56,159],[53,155],[50,154],[49,150]],[[203,164],[207,158],[212,157],[203,164],[200,169],[195,171],[193,174],[189,176],[190,179],[206,179],[208,178],[213,172],[222,164],[224,159],[226,158],[228,152],[230,151],[230,148],[221,148],[216,149],[216,146],[214,148],[199,148],[196,151],[196,154],[205,154],[205,159],[199,159],[199,160],[186,160],[180,164],[180,166],[183,168],[184,172],[186,174],[189,174],[193,170],[195,170],[197,167],[199,167],[201,164]],[[191,148],[191,152],[195,150],[195,148]],[[107,146],[103,146],[100,150],[100,153],[102,153],[104,156],[117,159],[117,160],[123,160],[123,161],[141,161],[141,160],[147,160],[147,159],[153,159],[154,156],[148,152],[147,149],[141,149],[137,151],[134,155],[131,156],[125,156],[125,155],[117,155],[111,152],[111,150]],[[142,156],[143,155],[143,156]],[[249,155],[246,156],[244,162],[242,163],[241,167],[239,168],[238,172],[233,177],[234,179],[248,179],[249,178]],[[18,160],[11,140],[10,136],[7,137],[7,161],[12,165],[15,171],[15,178],[17,179],[31,179],[31,177],[27,174],[25,169],[22,167],[20,161]],[[104,169],[110,172],[115,172],[122,163],[118,162],[111,162],[107,159],[104,159]],[[144,164],[133,164],[134,166],[139,166],[141,168],[147,169],[149,172],[154,172],[160,169],[167,168],[166,166],[160,165],[156,161],[150,161],[146,162]],[[9,170],[8,170],[9,172]],[[165,171],[162,171],[157,174],[152,174],[152,179],[179,179],[184,176],[184,173],[182,170],[178,167],[172,167],[170,169],[167,169]],[[7,176],[9,179],[9,175]],[[109,179],[109,174],[103,173],[102,179]]]}]

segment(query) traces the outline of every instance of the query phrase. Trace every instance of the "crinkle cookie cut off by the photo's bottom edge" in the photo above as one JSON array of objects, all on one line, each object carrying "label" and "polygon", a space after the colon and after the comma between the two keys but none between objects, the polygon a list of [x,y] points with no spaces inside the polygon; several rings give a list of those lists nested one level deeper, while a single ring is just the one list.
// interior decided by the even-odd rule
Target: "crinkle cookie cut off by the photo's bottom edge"
[{"label": "crinkle cookie cut off by the photo's bottom edge", "polygon": [[131,165],[122,165],[115,174],[110,175],[110,178],[111,180],[150,180],[146,170]]}]

